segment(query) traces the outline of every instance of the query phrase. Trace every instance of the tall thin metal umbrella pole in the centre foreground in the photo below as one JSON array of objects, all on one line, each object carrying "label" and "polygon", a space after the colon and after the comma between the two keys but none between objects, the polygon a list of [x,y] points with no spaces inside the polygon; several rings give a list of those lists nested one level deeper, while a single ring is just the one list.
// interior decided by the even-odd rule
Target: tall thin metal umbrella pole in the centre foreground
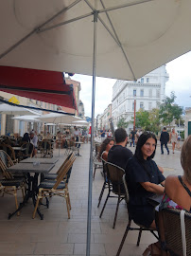
[{"label": "tall thin metal umbrella pole in the centre foreground", "polygon": [[93,55],[93,88],[92,88],[92,129],[89,162],[89,187],[88,187],[88,218],[87,218],[87,241],[86,256],[90,256],[91,246],[91,215],[92,215],[92,187],[93,187],[93,145],[95,132],[95,98],[96,98],[96,27],[98,13],[94,11],[94,55]]}]

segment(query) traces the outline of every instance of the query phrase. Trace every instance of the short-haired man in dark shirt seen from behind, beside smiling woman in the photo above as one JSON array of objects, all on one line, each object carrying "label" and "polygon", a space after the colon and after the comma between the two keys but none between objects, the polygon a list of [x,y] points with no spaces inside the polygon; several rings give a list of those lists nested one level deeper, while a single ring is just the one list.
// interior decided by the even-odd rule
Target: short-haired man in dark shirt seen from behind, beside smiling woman
[{"label": "short-haired man in dark shirt seen from behind, beside smiling woman", "polygon": [[114,137],[116,144],[109,151],[108,161],[125,170],[129,158],[132,157],[131,151],[126,148],[128,135],[125,129],[118,128],[114,132]]}]

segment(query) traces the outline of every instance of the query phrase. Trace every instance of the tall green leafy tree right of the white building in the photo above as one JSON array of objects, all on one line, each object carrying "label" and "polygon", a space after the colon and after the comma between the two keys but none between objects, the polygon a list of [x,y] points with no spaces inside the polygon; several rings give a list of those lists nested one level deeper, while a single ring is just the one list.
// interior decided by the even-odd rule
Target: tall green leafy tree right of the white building
[{"label": "tall green leafy tree right of the white building", "polygon": [[170,125],[174,119],[181,119],[182,108],[175,104],[175,99],[175,93],[171,92],[170,97],[165,97],[160,105],[159,118],[165,125]]}]

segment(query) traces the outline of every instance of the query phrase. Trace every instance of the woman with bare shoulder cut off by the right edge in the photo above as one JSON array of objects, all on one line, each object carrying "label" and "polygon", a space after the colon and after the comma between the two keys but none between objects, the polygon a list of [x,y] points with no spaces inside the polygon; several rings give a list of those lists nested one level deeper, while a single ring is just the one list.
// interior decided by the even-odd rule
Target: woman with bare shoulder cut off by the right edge
[{"label": "woman with bare shoulder cut off by the right edge", "polygon": [[165,180],[165,194],[160,209],[175,208],[191,212],[191,136],[182,145],[183,174],[169,175]]}]

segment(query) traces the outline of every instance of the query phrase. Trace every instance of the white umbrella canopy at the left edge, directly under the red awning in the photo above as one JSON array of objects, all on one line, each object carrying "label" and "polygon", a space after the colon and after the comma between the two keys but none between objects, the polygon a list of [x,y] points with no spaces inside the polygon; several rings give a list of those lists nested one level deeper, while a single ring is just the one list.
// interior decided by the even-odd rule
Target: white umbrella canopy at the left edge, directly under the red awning
[{"label": "white umbrella canopy at the left edge, directly under the red awning", "polygon": [[11,106],[9,104],[0,104],[0,113],[7,115],[39,115],[39,113],[25,107]]}]

